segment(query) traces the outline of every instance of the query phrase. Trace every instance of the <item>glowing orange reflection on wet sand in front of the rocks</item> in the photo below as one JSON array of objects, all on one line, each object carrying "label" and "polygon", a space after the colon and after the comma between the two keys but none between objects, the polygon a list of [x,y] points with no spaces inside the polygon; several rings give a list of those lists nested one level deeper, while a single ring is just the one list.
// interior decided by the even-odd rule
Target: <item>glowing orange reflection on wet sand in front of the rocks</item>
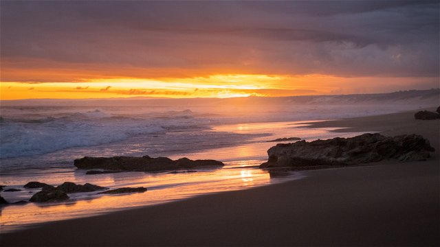
[{"label": "glowing orange reflection on wet sand in front of the rocks", "polygon": [[[102,175],[95,176],[94,183],[109,187],[143,186],[147,187],[148,191],[112,196],[101,196],[97,195],[96,192],[76,193],[69,194],[71,199],[65,203],[28,203],[3,207],[0,216],[2,231],[11,231],[14,228],[41,222],[87,217],[108,213],[109,211],[170,202],[205,193],[232,191],[271,183],[267,172],[261,169],[239,168],[238,164],[226,165],[223,169],[199,170],[198,172],[183,174],[162,174],[161,176],[141,172],[129,173],[125,178],[123,174]],[[76,177],[80,177],[80,175]],[[113,177],[113,183],[109,183],[111,180],[109,177]],[[78,180],[73,181],[78,183]],[[100,183],[100,181],[106,181],[107,183]]]}]

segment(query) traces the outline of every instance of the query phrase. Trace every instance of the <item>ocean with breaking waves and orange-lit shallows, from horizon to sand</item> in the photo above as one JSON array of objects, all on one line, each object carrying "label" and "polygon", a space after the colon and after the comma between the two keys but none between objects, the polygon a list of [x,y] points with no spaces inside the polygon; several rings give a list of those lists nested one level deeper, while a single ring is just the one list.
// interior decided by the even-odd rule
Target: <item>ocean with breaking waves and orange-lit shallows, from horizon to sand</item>
[{"label": "ocean with breaking waves and orange-lit shallows, from horizon to sand", "polygon": [[[438,99],[439,91],[433,90],[368,97],[2,101],[0,184],[21,189],[2,191],[8,202],[29,200],[39,191],[23,189],[30,181],[143,186],[148,191],[117,196],[75,193],[67,202],[12,204],[0,208],[1,231],[300,179],[303,172],[271,177],[258,168],[267,160],[267,149],[276,144],[267,141],[353,137],[361,133],[307,128],[307,122],[413,110],[435,106]],[[83,156],[121,155],[209,158],[225,167],[86,175],[73,165]]]}]

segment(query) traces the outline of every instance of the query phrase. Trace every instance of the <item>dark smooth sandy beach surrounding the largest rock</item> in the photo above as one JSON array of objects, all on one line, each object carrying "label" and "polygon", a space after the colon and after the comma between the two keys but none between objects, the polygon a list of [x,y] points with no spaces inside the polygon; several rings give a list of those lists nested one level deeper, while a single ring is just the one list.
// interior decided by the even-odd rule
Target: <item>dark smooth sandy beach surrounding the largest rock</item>
[{"label": "dark smooth sandy beach surrounding the largest rock", "polygon": [[[440,121],[413,112],[325,121],[422,134],[429,161],[303,172],[283,184],[199,196],[0,235],[1,246],[440,246]],[[148,192],[147,192],[148,193]]]}]

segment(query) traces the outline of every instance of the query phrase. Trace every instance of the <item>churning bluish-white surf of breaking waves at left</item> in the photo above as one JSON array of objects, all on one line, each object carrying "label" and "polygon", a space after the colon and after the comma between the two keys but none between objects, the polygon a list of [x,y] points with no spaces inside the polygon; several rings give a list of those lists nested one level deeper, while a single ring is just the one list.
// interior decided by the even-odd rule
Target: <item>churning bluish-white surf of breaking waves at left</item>
[{"label": "churning bluish-white surf of breaking waves at left", "polygon": [[[15,115],[1,119],[0,157],[14,158],[122,141],[140,134],[161,134],[167,130],[195,128],[190,112],[164,113],[162,117],[115,116],[103,110],[57,113],[61,117]],[[175,117],[173,117],[175,115]]]}]

